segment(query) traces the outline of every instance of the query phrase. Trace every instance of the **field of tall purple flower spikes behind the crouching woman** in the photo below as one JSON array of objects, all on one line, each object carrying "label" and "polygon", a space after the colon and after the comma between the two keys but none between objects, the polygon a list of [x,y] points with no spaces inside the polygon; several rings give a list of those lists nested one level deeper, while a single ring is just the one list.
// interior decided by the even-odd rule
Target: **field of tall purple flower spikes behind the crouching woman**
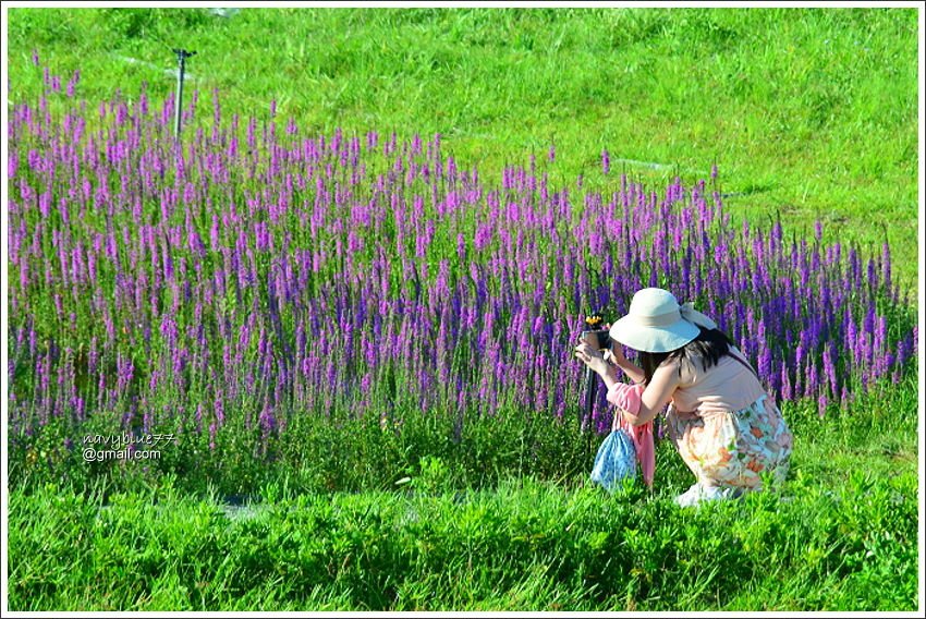
[{"label": "field of tall purple flower spikes behind the crouching woman", "polygon": [[293,445],[308,425],[440,420],[422,452],[492,420],[602,432],[604,391],[576,423],[571,350],[585,315],[618,317],[646,286],[716,317],[769,389],[820,415],[915,353],[887,244],[825,246],[773,214],[732,224],[716,169],[656,191],[605,151],[563,179],[550,145],[499,175],[439,135],[318,135],[273,102],[228,118],[217,93],[211,120],[194,95],[178,143],[172,99],[92,108],[78,77],[46,74],[47,98],[10,110],[14,484],[125,468],[82,462],[88,434],[171,434],[142,474],[221,477],[227,459],[324,449]]}]

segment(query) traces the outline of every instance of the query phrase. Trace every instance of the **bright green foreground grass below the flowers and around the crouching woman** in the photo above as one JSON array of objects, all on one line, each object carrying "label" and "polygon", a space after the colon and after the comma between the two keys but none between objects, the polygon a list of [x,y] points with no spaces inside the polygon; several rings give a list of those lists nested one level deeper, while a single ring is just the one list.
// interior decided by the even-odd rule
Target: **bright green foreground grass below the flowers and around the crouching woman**
[{"label": "bright green foreground grass below the flowers and around the crouching woman", "polygon": [[912,610],[916,420],[892,412],[913,410],[914,386],[857,405],[787,406],[799,438],[782,493],[696,510],[671,502],[690,480],[668,444],[651,494],[613,497],[582,475],[460,491],[435,463],[411,489],[273,484],[231,519],[172,483],[106,500],[16,489],[10,608]]}]

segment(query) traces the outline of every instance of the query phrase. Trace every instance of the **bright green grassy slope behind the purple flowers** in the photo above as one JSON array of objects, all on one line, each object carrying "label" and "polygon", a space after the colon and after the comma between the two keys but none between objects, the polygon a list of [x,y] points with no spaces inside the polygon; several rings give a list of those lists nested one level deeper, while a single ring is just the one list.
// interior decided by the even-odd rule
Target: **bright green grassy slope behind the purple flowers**
[{"label": "bright green grassy slope behind the purple flowers", "polygon": [[[717,162],[736,216],[876,251],[916,280],[913,9],[12,9],[10,98],[37,100],[33,49],[92,104],[147,82],[173,92],[171,48],[211,118],[283,118],[330,132],[441,133],[499,172],[556,144],[564,178],[607,148],[656,186]],[[135,59],[139,62],[130,62]],[[190,90],[187,90],[188,93]],[[186,100],[190,100],[188,98]],[[621,165],[614,165],[620,169]]]}]

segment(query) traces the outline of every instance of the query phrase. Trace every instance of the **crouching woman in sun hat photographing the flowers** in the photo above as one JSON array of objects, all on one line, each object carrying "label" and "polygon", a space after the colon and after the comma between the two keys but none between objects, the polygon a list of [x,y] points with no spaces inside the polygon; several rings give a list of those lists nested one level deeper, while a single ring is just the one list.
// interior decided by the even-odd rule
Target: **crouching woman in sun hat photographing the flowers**
[{"label": "crouching woman in sun hat photographing the flowers", "polygon": [[[581,343],[575,356],[608,387],[608,401],[634,426],[651,421],[666,404],[669,435],[697,477],[675,498],[682,507],[740,496],[761,487],[760,474],[788,473],[792,435],[773,399],[743,354],[717,325],[668,291],[646,288],[630,312],[611,326],[605,355]],[[621,344],[639,352],[643,367]],[[634,380],[618,380],[617,367]]]}]

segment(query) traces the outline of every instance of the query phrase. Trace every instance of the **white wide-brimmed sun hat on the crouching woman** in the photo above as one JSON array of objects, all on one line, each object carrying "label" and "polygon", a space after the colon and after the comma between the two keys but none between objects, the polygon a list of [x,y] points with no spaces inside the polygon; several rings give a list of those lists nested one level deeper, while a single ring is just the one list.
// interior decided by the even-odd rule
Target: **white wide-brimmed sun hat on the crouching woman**
[{"label": "white wide-brimmed sun hat on the crouching woman", "polygon": [[671,352],[717,324],[696,312],[692,303],[680,305],[661,288],[644,288],[633,295],[628,315],[611,325],[611,339],[643,352]]}]

